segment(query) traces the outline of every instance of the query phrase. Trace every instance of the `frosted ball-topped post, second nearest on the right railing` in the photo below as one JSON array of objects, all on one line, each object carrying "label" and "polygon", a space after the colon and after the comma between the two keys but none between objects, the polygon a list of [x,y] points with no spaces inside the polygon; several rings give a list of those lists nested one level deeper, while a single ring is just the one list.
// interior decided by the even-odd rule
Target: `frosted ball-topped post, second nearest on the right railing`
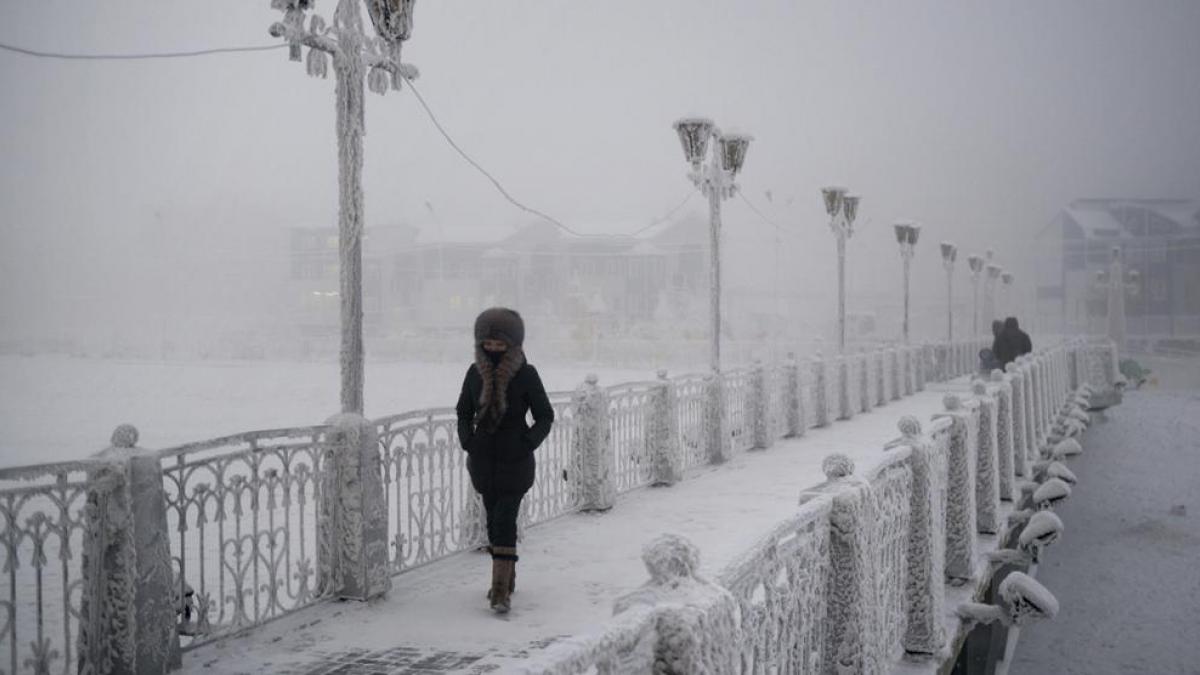
[{"label": "frosted ball-topped post, second nearest on the right railing", "polygon": [[[832,494],[829,512],[829,585],[826,597],[821,673],[881,675],[883,653],[876,590],[876,508],[870,484],[853,477],[854,462],[834,454],[822,461]],[[908,468],[899,471],[907,478]],[[811,495],[811,492],[810,492]],[[802,500],[804,497],[802,496]]]}]

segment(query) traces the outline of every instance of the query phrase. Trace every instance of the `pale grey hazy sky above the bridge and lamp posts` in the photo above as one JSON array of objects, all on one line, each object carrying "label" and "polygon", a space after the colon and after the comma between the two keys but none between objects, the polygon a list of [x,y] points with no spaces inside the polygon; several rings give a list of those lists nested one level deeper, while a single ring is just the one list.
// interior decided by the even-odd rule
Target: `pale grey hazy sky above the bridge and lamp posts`
[{"label": "pale grey hazy sky above the bridge and lamp posts", "polygon": [[[326,19],[334,7],[317,0]],[[268,0],[2,0],[0,41],[269,44],[278,17]],[[406,60],[469,153],[582,229],[634,229],[686,193],[676,118],[749,131],[742,185],[784,227],[788,282],[830,279],[818,187],[840,183],[863,195],[852,292],[881,292],[900,217],[925,225],[918,282],[932,288],[940,239],[1021,269],[1073,198],[1200,197],[1198,35],[1195,0],[421,0]],[[334,222],[334,82],[286,50],[0,52],[0,323],[130,311],[162,287],[134,288],[220,275],[262,256],[247,244],[262,233]],[[368,94],[365,143],[368,226],[527,220],[407,91]],[[734,261],[770,255],[772,228],[744,204],[727,203],[726,225]]]}]

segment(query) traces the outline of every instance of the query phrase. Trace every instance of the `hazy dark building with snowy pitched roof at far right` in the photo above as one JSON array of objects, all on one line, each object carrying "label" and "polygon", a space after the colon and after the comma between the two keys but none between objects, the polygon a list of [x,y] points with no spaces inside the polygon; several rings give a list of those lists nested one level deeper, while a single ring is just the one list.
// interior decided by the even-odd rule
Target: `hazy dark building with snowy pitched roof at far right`
[{"label": "hazy dark building with snowy pitched roof at far right", "polygon": [[1126,300],[1130,336],[1200,335],[1200,201],[1076,199],[1038,235],[1038,315],[1046,327],[1098,330],[1097,273],[1120,247],[1140,280]]}]

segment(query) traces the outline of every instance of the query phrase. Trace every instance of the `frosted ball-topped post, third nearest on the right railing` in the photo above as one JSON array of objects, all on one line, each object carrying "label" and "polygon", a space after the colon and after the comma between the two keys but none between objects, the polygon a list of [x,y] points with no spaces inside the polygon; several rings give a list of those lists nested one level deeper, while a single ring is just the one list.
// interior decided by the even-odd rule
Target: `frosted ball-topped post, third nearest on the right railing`
[{"label": "frosted ball-topped post, third nearest on the right railing", "polygon": [[946,644],[946,476],[944,446],[932,443],[912,416],[900,418],[902,442],[911,448],[912,490],[908,512],[908,573],[905,578],[904,649],[935,655]]}]

